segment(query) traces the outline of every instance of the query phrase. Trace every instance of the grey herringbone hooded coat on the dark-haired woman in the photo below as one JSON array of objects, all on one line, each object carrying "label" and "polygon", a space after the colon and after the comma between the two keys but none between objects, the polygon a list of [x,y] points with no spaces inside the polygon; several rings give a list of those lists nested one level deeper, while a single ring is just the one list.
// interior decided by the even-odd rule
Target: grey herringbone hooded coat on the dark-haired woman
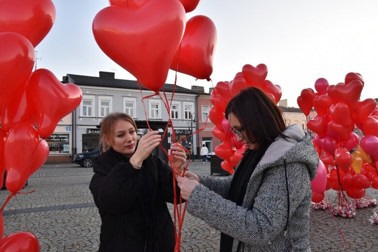
[{"label": "grey herringbone hooded coat on the dark-haired woman", "polygon": [[234,237],[232,252],[239,243],[244,252],[311,251],[310,180],[316,176],[319,158],[310,136],[298,125],[287,127],[284,134],[290,138],[277,138],[257,164],[242,206],[221,196],[227,194],[232,176],[199,176],[201,183],[190,194],[187,211]]}]

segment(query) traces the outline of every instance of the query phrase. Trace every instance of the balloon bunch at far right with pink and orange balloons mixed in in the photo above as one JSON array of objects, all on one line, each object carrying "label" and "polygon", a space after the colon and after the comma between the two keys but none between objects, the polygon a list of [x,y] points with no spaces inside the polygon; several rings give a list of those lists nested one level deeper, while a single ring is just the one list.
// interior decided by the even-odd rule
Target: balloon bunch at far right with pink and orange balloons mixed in
[{"label": "balloon bunch at far right with pink and orange balloons mixed in", "polygon": [[[341,211],[348,208],[345,193],[360,199],[367,188],[378,189],[378,108],[374,99],[360,101],[363,86],[358,73],[348,73],[344,83],[336,85],[319,78],[317,92],[303,89],[297,99],[306,116],[312,109],[317,113],[307,121],[307,127],[316,133],[313,143],[326,165],[325,191],[332,188],[339,192]],[[313,191],[313,202],[323,198],[324,192]]]}]

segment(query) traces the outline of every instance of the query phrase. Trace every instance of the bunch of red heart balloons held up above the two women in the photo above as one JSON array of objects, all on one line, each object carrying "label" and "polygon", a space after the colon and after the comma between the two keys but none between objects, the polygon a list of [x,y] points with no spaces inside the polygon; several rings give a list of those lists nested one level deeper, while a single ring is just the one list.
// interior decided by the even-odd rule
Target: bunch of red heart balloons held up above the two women
[{"label": "bunch of red heart balloons held up above the two women", "polygon": [[147,89],[158,92],[172,69],[209,79],[216,46],[212,20],[197,15],[199,0],[109,0],[93,19],[98,46]]}]

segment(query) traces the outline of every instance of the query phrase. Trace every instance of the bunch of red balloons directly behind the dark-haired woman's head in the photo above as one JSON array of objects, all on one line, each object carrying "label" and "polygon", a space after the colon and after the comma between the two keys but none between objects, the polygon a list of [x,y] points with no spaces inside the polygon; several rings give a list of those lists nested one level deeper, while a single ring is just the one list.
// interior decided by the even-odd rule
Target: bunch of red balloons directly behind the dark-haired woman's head
[{"label": "bunch of red balloons directly behind the dark-haired woman's head", "polygon": [[256,87],[262,89],[275,103],[278,103],[282,96],[281,87],[266,80],[268,68],[265,64],[256,67],[244,65],[242,72],[237,73],[231,81],[220,81],[216,84],[211,93],[213,104],[209,112],[209,118],[215,126],[212,133],[222,141],[222,144],[215,147],[215,154],[224,159],[221,166],[227,172],[233,174],[235,167],[245,150],[245,146],[236,140],[231,132],[228,120],[225,118],[225,110],[228,102],[242,89]]}]

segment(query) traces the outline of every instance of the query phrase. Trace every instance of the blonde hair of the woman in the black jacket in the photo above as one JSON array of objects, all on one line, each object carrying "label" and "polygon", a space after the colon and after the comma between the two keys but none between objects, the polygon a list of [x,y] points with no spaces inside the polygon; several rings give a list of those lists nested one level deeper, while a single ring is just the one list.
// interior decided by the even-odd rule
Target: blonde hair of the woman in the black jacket
[{"label": "blonde hair of the woman in the black jacket", "polygon": [[[100,129],[100,147],[101,147],[101,153],[107,151],[111,148],[111,144],[113,142],[113,133],[114,133],[114,126],[119,120],[125,120],[130,122],[134,128],[135,131],[137,131],[136,123],[134,119],[127,115],[126,113],[121,112],[115,112],[107,115],[101,122],[101,129]],[[106,141],[108,143],[106,143]]]}]

